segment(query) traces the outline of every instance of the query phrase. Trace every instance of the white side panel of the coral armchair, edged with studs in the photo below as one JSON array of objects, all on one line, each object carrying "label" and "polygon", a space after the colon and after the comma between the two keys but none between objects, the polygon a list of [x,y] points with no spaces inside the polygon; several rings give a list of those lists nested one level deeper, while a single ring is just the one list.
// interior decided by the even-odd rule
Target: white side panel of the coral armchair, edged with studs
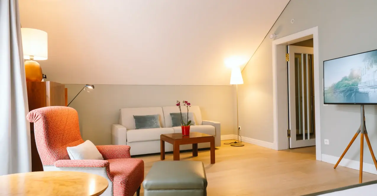
[{"label": "white side panel of the coral armchair, edged with studs", "polygon": [[109,186],[106,190],[101,194],[101,196],[112,196],[112,189],[113,183],[106,175],[105,167],[96,167],[96,168],[89,168],[89,167],[55,167],[55,166],[43,166],[43,171],[70,171],[70,172],[85,172],[85,173],[92,173],[99,176],[102,176],[107,179],[109,182]]}]

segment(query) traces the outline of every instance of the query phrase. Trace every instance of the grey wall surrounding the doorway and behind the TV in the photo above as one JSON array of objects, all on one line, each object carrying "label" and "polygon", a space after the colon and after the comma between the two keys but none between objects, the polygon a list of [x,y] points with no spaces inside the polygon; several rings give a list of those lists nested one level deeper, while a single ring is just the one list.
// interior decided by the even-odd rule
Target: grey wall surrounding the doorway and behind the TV
[{"label": "grey wall surrounding the doorway and behind the TV", "polygon": [[[318,26],[320,81],[323,61],[377,49],[376,0],[291,0],[270,33],[281,38]],[[295,22],[291,24],[291,19]],[[272,40],[265,38],[242,71],[239,85],[242,136],[273,142]],[[320,84],[322,86],[322,84]],[[340,156],[360,125],[360,106],[323,106],[321,87],[322,153]],[[377,150],[377,107],[366,106],[366,126],[372,147]],[[323,139],[330,144],[324,145]],[[366,144],[365,144],[366,145]],[[360,137],[345,158],[358,160]],[[365,147],[364,160],[373,163]]]}]

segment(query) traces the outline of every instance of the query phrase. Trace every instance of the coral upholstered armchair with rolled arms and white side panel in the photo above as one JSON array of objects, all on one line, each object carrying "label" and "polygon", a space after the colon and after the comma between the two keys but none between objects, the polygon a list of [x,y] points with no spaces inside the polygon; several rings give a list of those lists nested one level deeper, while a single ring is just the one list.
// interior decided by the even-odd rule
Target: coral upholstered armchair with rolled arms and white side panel
[{"label": "coral upholstered armchair with rolled arms and white side panel", "polygon": [[109,187],[102,195],[139,195],[144,179],[144,162],[131,158],[126,145],[97,146],[104,160],[70,160],[67,147],[84,142],[77,111],[63,106],[35,109],[27,115],[34,123],[35,142],[44,171],[78,171],[105,177]]}]

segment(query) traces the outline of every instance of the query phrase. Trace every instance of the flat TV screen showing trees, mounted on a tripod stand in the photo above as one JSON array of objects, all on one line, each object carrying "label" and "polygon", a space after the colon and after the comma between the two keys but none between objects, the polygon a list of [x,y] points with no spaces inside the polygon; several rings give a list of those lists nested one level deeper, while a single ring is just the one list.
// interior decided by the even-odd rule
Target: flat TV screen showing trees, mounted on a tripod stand
[{"label": "flat TV screen showing trees, mounted on a tripod stand", "polygon": [[377,50],[323,61],[324,104],[377,104]]}]

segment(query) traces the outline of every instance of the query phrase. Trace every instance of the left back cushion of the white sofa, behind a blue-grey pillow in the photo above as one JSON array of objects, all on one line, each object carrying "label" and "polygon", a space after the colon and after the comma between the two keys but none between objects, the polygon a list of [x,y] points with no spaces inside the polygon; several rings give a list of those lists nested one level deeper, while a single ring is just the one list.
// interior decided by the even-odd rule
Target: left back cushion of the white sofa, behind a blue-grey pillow
[{"label": "left back cushion of the white sofa, behind a blue-grey pillow", "polygon": [[154,108],[122,108],[120,109],[119,124],[125,126],[127,129],[136,129],[133,115],[159,115],[161,127],[165,127],[164,112],[161,107]]}]

